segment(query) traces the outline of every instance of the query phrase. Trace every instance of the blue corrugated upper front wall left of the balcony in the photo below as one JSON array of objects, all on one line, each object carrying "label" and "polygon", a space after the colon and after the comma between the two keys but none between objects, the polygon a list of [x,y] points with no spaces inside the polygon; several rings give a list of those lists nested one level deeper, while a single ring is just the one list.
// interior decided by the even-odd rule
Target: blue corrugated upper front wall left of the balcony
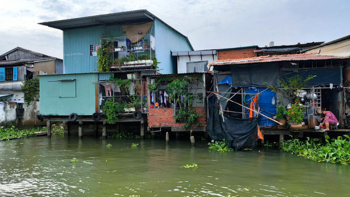
[{"label": "blue corrugated upper front wall left of the balcony", "polygon": [[102,36],[124,36],[120,26],[99,26],[65,30],[63,54],[65,73],[95,72],[97,56],[90,56],[90,45],[99,44]]}]

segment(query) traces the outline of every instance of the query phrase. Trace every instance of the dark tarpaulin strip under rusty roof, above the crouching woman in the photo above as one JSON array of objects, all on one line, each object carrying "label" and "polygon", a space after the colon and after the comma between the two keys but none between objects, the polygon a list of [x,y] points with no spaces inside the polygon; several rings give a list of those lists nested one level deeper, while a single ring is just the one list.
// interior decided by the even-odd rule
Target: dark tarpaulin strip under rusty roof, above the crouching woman
[{"label": "dark tarpaulin strip under rusty roof, above the crouching woman", "polygon": [[309,75],[317,75],[317,77],[311,79],[307,83],[308,87],[312,87],[315,85],[341,83],[340,72],[340,67],[299,69],[298,72],[283,73],[282,78],[286,79],[295,75],[299,75],[303,79],[306,79]]}]

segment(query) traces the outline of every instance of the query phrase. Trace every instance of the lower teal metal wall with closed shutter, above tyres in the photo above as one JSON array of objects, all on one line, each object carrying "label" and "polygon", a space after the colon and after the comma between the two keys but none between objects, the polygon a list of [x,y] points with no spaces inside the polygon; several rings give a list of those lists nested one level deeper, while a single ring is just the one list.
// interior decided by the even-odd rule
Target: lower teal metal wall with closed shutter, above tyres
[{"label": "lower teal metal wall with closed shutter, above tyres", "polygon": [[[43,75],[39,79],[40,114],[68,116],[71,113],[78,115],[95,113],[94,81],[98,80],[97,73]],[[60,79],[75,79],[75,83],[72,85],[73,83],[57,81]],[[75,97],[72,94],[74,92]]]}]

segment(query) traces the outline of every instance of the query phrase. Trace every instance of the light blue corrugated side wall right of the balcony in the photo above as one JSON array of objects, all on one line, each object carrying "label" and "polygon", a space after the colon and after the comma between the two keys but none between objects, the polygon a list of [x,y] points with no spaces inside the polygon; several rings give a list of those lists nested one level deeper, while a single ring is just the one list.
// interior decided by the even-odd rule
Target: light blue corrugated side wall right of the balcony
[{"label": "light blue corrugated side wall right of the balcony", "polygon": [[154,22],[156,39],[156,57],[159,62],[159,72],[162,74],[172,74],[176,72],[176,62],[172,61],[170,51],[191,51],[191,47],[186,38],[170,29],[161,21],[155,19]]}]

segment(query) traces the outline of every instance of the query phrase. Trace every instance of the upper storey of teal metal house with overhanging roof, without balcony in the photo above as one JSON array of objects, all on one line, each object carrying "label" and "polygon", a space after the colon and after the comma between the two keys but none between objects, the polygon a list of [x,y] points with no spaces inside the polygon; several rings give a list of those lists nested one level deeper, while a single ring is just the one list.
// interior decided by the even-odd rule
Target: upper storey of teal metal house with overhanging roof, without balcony
[{"label": "upper storey of teal metal house with overhanging roof, without balcony", "polygon": [[63,30],[64,73],[68,74],[96,72],[97,56],[94,54],[94,47],[100,44],[101,38],[106,36],[130,38],[142,35],[145,32],[140,33],[134,27],[133,30],[136,30],[136,33],[132,35],[125,31],[123,26],[146,23],[152,23],[147,31],[147,36],[154,38],[151,40],[154,43],[152,49],[160,62],[159,72],[162,74],[175,73],[176,64],[172,61],[171,51],[191,51],[193,50],[191,43],[185,35],[147,10],[118,12],[39,24]]}]

